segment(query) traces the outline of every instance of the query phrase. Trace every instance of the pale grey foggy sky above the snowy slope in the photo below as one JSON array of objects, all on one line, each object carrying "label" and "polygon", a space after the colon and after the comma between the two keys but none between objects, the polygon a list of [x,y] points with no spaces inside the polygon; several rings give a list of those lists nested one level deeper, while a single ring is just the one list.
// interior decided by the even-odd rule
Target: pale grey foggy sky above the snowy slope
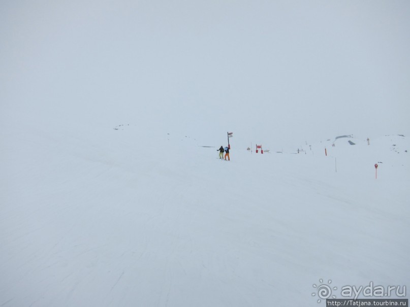
[{"label": "pale grey foggy sky above the snowy slope", "polygon": [[408,1],[2,1],[0,119],[406,133],[409,17]]}]

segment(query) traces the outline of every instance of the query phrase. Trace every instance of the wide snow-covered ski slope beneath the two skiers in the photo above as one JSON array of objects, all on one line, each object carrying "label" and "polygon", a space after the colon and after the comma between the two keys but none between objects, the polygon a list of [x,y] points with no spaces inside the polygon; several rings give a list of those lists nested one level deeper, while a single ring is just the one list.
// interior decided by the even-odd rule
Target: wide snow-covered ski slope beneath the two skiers
[{"label": "wide snow-covered ski slope beneath the two skiers", "polygon": [[1,306],[314,306],[321,278],[338,298],[408,282],[408,138],[262,155],[235,135],[228,162],[225,131],[150,128],[1,131]]}]

